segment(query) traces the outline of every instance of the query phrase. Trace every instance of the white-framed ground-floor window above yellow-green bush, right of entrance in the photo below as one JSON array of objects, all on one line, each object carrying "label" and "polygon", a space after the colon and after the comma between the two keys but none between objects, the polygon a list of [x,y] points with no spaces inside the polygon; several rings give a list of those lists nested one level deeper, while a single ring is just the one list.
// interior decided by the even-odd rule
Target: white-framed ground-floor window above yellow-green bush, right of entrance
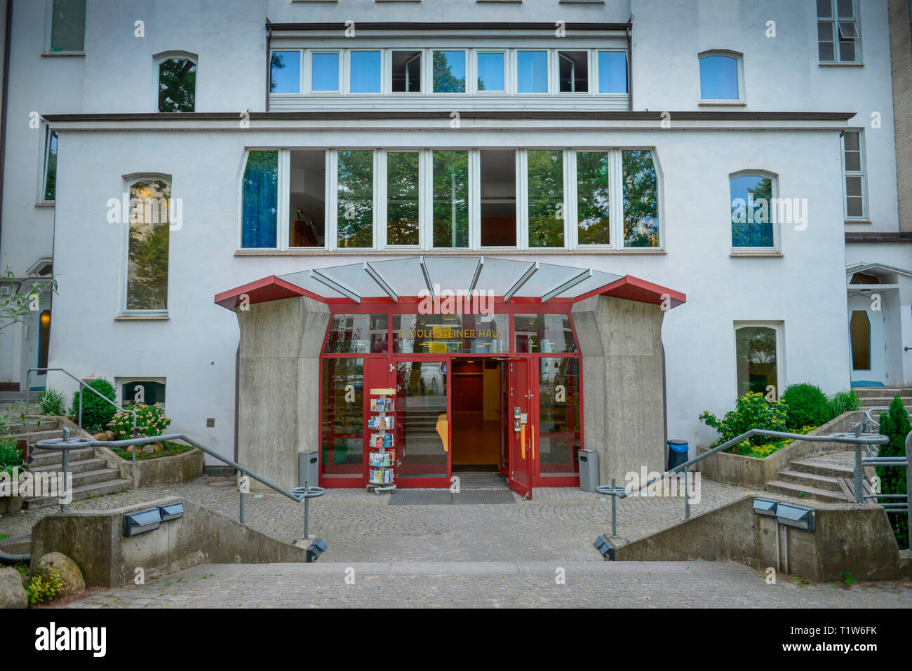
[{"label": "white-framed ground-floor window above yellow-green bush, right of entrance", "polygon": [[734,332],[738,396],[755,392],[778,398],[785,384],[782,322],[735,322]]}]

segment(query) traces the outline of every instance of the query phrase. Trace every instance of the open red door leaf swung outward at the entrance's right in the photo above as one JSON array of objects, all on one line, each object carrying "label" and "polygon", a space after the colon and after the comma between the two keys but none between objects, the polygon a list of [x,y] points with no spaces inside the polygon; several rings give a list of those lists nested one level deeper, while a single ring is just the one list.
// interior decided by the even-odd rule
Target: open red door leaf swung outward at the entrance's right
[{"label": "open red door leaf swung outward at the entrance's right", "polygon": [[510,360],[510,466],[507,482],[510,489],[532,498],[532,473],[534,470],[534,389],[533,360]]}]

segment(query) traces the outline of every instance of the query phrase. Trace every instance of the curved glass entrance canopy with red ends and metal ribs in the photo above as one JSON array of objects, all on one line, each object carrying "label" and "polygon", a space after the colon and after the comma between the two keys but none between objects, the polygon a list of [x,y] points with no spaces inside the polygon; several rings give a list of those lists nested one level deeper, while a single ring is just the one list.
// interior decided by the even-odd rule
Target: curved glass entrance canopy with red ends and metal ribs
[{"label": "curved glass entrance canopy with red ends and metal ribs", "polygon": [[216,294],[215,303],[234,310],[247,304],[307,296],[327,304],[408,303],[448,294],[492,295],[509,303],[576,303],[609,295],[669,308],[685,294],[632,275],[618,275],[554,263],[490,256],[409,256],[349,263],[284,275]]}]

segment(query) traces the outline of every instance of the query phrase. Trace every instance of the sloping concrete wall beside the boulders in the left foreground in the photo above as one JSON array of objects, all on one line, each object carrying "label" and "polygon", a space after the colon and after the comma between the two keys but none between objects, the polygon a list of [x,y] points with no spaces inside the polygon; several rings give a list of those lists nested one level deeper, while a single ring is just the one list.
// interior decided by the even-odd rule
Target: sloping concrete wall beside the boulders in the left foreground
[{"label": "sloping concrete wall beside the boulders in the left foreground", "polygon": [[[123,514],[183,503],[179,520],[161,522],[153,532],[124,538]],[[47,552],[76,562],[86,584],[114,587],[201,563],[299,563],[306,553],[289,543],[254,532],[240,522],[179,497],[137,503],[109,511],[68,511],[48,515],[32,528],[32,570]]]}]

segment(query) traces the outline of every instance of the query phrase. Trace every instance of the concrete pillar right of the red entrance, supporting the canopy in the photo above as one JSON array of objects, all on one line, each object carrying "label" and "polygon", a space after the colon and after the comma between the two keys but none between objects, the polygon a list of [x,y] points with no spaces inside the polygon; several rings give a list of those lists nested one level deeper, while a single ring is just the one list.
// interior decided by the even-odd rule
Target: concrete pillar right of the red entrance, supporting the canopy
[{"label": "concrete pillar right of the red entrance, supporting the canopy", "polygon": [[572,316],[582,355],[583,430],[598,452],[602,484],[628,472],[665,470],[662,317],[658,305],[610,296],[577,303]]}]

